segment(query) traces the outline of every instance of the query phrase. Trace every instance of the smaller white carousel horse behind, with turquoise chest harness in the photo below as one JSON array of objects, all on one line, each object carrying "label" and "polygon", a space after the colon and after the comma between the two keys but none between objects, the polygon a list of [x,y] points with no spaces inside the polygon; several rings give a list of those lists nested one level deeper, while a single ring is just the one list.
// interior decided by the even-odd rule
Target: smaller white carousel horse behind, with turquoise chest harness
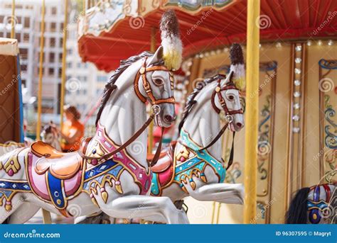
[{"label": "smaller white carousel horse behind, with turquoise chest harness", "polygon": [[[232,164],[234,144],[226,168],[220,137],[230,128],[234,141],[235,132],[244,126],[239,87],[243,86],[245,70],[240,45],[232,45],[230,57],[232,65],[227,78],[218,74],[205,79],[188,97],[178,141],[152,167],[151,195],[169,196],[177,205],[186,196],[219,203],[243,203],[242,184],[223,183],[226,169]],[[222,129],[221,112],[226,121]]]}]

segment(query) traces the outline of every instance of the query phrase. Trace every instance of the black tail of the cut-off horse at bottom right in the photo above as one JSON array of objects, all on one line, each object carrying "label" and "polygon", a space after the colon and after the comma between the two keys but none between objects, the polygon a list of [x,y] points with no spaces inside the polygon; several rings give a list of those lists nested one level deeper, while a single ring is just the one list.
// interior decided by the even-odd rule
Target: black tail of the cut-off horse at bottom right
[{"label": "black tail of the cut-off horse at bottom right", "polygon": [[286,214],[287,224],[306,224],[307,223],[307,206],[306,201],[308,200],[310,188],[304,187],[297,191],[294,198],[292,198],[289,205],[289,210]]}]

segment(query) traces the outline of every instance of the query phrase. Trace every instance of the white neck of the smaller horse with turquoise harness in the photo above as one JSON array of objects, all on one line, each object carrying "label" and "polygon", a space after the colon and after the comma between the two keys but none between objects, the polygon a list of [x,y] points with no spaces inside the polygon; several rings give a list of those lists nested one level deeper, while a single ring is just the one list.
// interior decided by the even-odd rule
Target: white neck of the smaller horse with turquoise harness
[{"label": "white neck of the smaller horse with turquoise harness", "polygon": [[[213,86],[208,85],[203,89],[213,89]],[[209,145],[220,131],[220,118],[213,109],[210,96],[210,90],[200,91],[200,94],[195,98],[198,102],[194,105],[191,113],[188,114],[183,125],[183,130],[201,147]],[[221,151],[220,139],[208,148],[208,152],[218,161],[221,161]]]}]

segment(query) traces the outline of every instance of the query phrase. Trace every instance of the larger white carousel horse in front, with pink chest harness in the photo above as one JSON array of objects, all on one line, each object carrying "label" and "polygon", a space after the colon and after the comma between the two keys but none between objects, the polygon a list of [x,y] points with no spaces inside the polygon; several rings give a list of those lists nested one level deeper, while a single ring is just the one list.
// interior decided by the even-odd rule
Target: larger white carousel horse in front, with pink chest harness
[{"label": "larger white carousel horse in front, with pink chest harness", "polygon": [[[168,127],[175,119],[171,69],[180,66],[182,48],[177,24],[173,11],[164,13],[164,47],[121,63],[106,86],[96,135],[80,152],[58,152],[37,141],[0,157],[1,223],[26,222],[40,208],[65,217],[102,210],[111,217],[188,222],[169,198],[149,196],[146,161],[151,120]],[[146,100],[154,111],[147,120]]]}]

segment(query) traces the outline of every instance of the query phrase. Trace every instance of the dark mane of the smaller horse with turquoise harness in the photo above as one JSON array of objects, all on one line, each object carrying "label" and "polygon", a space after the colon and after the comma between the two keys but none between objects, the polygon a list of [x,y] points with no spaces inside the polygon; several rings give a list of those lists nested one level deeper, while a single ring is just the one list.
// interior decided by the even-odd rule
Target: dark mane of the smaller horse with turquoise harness
[{"label": "dark mane of the smaller horse with turquoise harness", "polygon": [[183,108],[181,122],[178,125],[179,133],[181,132],[181,128],[183,128],[183,123],[185,123],[188,114],[191,113],[194,104],[197,103],[197,101],[195,100],[196,96],[200,93],[200,91],[203,90],[205,86],[207,86],[207,84],[210,84],[218,79],[224,79],[224,76],[221,74],[216,74],[215,76],[210,77],[209,79],[204,79],[203,81],[200,81],[198,82],[198,84],[196,84],[196,88],[194,88],[192,93],[187,97],[185,108]]}]

